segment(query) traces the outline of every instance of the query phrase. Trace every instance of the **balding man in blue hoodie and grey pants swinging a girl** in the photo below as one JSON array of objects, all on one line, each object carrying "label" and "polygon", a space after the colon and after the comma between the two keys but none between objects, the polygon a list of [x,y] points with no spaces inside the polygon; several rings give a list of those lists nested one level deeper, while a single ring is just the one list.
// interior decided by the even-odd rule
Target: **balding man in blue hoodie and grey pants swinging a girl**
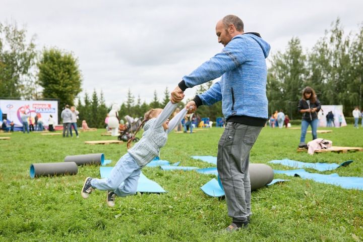
[{"label": "balding man in blue hoodie and grey pants swinging a girl", "polygon": [[250,150],[268,118],[265,58],[270,45],[258,33],[245,33],[242,20],[234,15],[218,21],[216,34],[224,46],[222,51],[184,76],[170,100],[179,102],[187,88],[221,77],[188,102],[187,108],[222,101],[227,126],[218,143],[217,169],[232,218],[226,230],[233,231],[250,222]]}]

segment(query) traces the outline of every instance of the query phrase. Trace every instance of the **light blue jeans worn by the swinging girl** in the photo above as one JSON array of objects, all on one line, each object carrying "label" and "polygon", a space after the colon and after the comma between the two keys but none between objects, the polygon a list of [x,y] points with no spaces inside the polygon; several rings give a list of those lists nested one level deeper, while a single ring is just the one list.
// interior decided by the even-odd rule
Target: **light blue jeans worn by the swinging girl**
[{"label": "light blue jeans worn by the swinging girl", "polygon": [[91,186],[103,191],[113,191],[118,197],[126,197],[136,194],[140,173],[140,166],[129,153],[126,153],[117,161],[109,177],[94,178]]}]

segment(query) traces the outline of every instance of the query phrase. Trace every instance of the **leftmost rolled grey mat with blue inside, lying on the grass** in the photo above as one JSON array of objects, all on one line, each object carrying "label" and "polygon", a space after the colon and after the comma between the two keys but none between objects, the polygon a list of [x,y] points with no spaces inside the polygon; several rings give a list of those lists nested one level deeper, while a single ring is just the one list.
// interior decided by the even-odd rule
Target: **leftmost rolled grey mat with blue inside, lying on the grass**
[{"label": "leftmost rolled grey mat with blue inside, lying on the grass", "polygon": [[71,174],[78,172],[78,166],[75,162],[58,162],[58,163],[34,163],[30,165],[30,177]]}]

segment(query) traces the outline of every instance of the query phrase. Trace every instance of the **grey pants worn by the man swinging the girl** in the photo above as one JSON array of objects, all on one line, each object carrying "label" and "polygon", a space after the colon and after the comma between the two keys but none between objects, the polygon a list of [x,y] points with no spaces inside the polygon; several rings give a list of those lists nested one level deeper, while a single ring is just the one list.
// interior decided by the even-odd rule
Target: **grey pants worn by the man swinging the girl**
[{"label": "grey pants worn by the man swinging the girl", "polygon": [[262,127],[227,123],[218,142],[217,169],[227,202],[228,216],[245,222],[251,214],[250,150]]}]

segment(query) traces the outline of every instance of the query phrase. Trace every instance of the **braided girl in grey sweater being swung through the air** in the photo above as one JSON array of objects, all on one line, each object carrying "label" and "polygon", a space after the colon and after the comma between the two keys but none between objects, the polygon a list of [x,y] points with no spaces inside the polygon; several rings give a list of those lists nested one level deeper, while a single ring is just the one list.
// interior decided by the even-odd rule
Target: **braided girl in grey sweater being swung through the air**
[{"label": "braided girl in grey sweater being swung through the air", "polygon": [[[151,109],[145,113],[143,122],[128,141],[128,153],[118,160],[108,178],[87,177],[82,187],[82,197],[88,198],[95,189],[107,191],[107,205],[113,207],[116,196],[126,197],[135,194],[141,169],[159,155],[160,148],[166,144],[168,133],[187,113],[184,108],[169,123],[169,116],[176,105],[169,102],[164,109]],[[131,142],[142,126],[142,138],[130,149]]]}]

